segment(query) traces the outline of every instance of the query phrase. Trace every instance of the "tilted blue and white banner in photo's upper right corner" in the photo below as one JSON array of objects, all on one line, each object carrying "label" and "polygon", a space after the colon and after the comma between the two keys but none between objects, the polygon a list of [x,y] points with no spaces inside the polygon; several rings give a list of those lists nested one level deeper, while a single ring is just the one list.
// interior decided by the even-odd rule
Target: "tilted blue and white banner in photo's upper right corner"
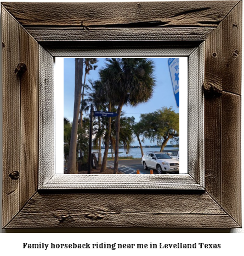
[{"label": "tilted blue and white banner in photo's upper right corner", "polygon": [[180,106],[180,59],[168,59],[169,73],[171,74],[171,81],[174,91],[174,97],[177,107]]}]

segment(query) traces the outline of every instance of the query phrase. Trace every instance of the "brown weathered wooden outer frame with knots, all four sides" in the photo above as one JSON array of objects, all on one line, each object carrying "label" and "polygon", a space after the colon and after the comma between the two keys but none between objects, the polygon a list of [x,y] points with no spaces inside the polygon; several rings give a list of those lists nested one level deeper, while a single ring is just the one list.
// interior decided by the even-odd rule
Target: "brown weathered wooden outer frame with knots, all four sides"
[{"label": "brown weathered wooden outer frame with knots, all four sides", "polygon": [[[2,226],[240,227],[241,21],[241,1],[177,2],[177,8],[175,2],[2,3]],[[52,94],[47,67],[53,57],[90,49],[95,56],[111,49],[133,56],[140,48],[202,47],[205,161],[204,172],[190,173],[193,186],[183,181],[176,190],[71,190],[67,184],[56,190],[38,184],[40,163],[53,163],[39,154],[53,121],[52,101],[39,86]],[[183,180],[172,177],[166,183]]]}]

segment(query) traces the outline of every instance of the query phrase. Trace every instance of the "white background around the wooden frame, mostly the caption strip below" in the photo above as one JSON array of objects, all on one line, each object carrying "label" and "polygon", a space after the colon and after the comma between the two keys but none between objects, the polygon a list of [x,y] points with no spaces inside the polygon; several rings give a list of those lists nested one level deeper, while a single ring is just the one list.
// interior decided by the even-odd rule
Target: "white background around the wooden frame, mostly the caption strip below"
[{"label": "white background around the wooden frame, mostly the caption strip below", "polygon": [[[16,1],[5,1],[5,2],[16,2]],[[33,1],[21,1],[21,2],[33,2]],[[50,1],[35,1],[35,2],[50,2]],[[53,2],[67,2],[67,1],[53,1]],[[90,2],[90,1],[72,1],[72,2]],[[108,2],[108,1],[93,1],[93,2]],[[114,1],[116,2],[116,1]],[[122,2],[122,1],[120,1]],[[130,2],[138,2],[138,1],[130,1]],[[242,66],[243,69],[243,66]],[[243,81],[243,71],[242,71],[242,81]],[[2,93],[2,91],[1,91]],[[0,96],[2,107],[2,96]],[[242,104],[242,120],[243,120],[243,104]],[[2,111],[0,113],[2,119]],[[2,126],[1,126],[2,133]],[[2,144],[2,136],[1,136],[1,144]],[[0,147],[2,150],[2,147]],[[242,148],[243,148],[243,139],[242,139]],[[2,154],[2,152],[1,152]],[[1,162],[2,169],[2,162]],[[242,170],[243,173],[243,170]],[[242,175],[242,184],[243,184],[243,176]],[[0,195],[2,198],[2,172],[0,177]],[[242,209],[243,209],[243,189],[242,189]],[[1,210],[1,209],[0,209]],[[242,220],[243,218],[242,210]],[[53,255],[54,252],[58,253],[58,255],[66,255],[67,253],[72,253],[72,255],[82,255],[82,254],[91,254],[91,255],[124,255],[125,253],[129,254],[142,254],[142,253],[154,253],[154,255],[163,255],[170,253],[171,255],[218,255],[218,254],[236,254],[242,255],[243,253],[243,241],[244,241],[244,230],[243,228],[237,228],[232,230],[199,230],[199,229],[187,229],[187,230],[141,230],[142,232],[151,232],[151,233],[140,233],[140,230],[134,231],[133,229],[114,229],[114,230],[97,230],[97,229],[33,229],[33,230],[12,230],[6,231],[1,230],[0,234],[0,253],[8,253],[9,255],[20,254],[20,255]],[[132,232],[138,233],[132,233]],[[18,232],[18,233],[15,233]],[[35,235],[30,232],[36,232]],[[52,234],[50,232],[55,232]],[[63,233],[62,233],[63,232]],[[64,233],[66,232],[66,233]],[[81,232],[81,233],[71,233],[70,232]],[[92,232],[92,233],[86,233]],[[93,233],[97,232],[97,233]],[[106,233],[99,233],[106,232]],[[110,233],[107,233],[110,232]],[[112,233],[112,232],[121,232],[121,233]],[[122,233],[128,232],[128,233]],[[158,233],[160,232],[160,233]],[[177,232],[177,233],[172,233]],[[182,232],[190,232],[190,233],[182,233]],[[198,233],[200,232],[200,233]],[[208,233],[205,233],[208,232]],[[230,233],[218,233],[217,232],[234,232],[236,234]],[[20,234],[21,233],[21,234]],[[197,233],[197,234],[196,234]],[[91,249],[55,249],[54,250],[44,250],[44,249],[21,249],[22,243],[93,243],[93,242],[106,242],[106,243],[221,243],[222,248],[220,249],[120,249],[120,250],[111,250],[111,249],[100,249],[100,250],[91,250]]]}]

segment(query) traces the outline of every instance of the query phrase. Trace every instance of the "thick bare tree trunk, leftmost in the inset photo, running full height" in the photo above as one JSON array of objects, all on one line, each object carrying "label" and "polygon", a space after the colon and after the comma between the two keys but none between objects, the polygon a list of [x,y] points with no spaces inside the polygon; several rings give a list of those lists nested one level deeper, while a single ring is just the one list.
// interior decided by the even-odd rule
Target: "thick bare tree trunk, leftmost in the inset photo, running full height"
[{"label": "thick bare tree trunk, leftmost in the inset photo, running full height", "polygon": [[70,151],[67,173],[77,174],[76,166],[76,148],[77,148],[77,131],[78,131],[78,119],[81,104],[81,86],[83,75],[83,58],[75,59],[75,102],[73,105],[73,122],[71,130]]}]

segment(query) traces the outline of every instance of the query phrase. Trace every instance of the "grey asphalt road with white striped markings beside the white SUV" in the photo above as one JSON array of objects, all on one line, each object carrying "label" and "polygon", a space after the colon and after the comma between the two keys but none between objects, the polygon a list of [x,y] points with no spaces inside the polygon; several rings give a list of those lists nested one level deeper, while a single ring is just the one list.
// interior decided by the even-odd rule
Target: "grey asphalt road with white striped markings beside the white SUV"
[{"label": "grey asphalt road with white striped markings beside the white SUV", "polygon": [[[107,167],[114,167],[114,161],[108,160]],[[150,170],[144,170],[141,159],[118,160],[118,170],[125,174],[137,174],[137,170],[140,174],[150,174]],[[154,173],[157,174],[157,171],[154,170]]]}]

